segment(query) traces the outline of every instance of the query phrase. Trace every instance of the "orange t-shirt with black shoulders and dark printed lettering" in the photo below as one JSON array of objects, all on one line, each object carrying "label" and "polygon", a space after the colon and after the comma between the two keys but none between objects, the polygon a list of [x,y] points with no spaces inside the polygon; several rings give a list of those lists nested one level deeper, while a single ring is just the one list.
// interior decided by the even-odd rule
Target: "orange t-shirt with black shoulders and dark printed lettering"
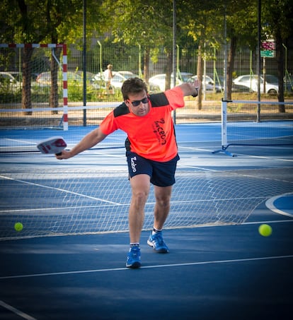
[{"label": "orange t-shirt with black shoulders and dark printed lettering", "polygon": [[183,92],[176,87],[165,93],[150,95],[149,105],[149,113],[139,117],[122,103],[103,119],[100,130],[108,135],[121,129],[127,134],[127,150],[149,160],[169,161],[178,153],[171,112],[184,107]]}]

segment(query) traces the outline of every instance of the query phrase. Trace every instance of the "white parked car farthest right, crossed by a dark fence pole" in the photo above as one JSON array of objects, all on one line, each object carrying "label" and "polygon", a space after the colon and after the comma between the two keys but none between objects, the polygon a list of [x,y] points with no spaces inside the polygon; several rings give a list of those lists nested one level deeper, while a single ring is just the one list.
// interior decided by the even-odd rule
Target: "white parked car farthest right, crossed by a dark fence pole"
[{"label": "white parked car farthest right, crossed by a dark fence pole", "polygon": [[[258,92],[258,76],[246,74],[233,81],[236,85],[245,85],[252,91]],[[260,76],[260,93],[263,93],[263,76]],[[277,77],[267,74],[265,76],[265,93],[276,95],[279,92]]]}]

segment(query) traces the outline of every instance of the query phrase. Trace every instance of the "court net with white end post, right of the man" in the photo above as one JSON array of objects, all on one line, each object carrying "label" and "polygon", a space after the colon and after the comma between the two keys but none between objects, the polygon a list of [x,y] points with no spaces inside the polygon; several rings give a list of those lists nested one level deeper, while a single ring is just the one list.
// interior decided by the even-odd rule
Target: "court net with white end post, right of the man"
[{"label": "court net with white end post, right of the man", "polygon": [[229,146],[293,146],[292,114],[293,102],[222,100],[222,149],[214,153],[232,155]]}]

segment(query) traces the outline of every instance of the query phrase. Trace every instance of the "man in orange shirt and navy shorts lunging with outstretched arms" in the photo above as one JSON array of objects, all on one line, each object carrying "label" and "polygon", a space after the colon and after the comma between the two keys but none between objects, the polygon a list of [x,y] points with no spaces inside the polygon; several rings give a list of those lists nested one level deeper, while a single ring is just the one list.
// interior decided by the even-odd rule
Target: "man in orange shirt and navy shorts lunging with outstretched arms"
[{"label": "man in orange shirt and navy shorts lunging with outstretched arms", "polygon": [[129,78],[122,84],[124,102],[103,119],[100,126],[87,134],[71,150],[63,150],[57,159],[74,157],[103,141],[117,129],[125,131],[126,158],[132,198],[129,208],[130,251],[127,268],[139,268],[141,263],[140,236],[144,224],[144,207],[150,185],[154,185],[154,227],[147,244],[154,251],[166,254],[163,225],[170,211],[172,186],[179,160],[175,128],[171,112],[184,107],[184,97],[196,97],[199,83],[182,83],[164,93],[149,95],[146,83]]}]

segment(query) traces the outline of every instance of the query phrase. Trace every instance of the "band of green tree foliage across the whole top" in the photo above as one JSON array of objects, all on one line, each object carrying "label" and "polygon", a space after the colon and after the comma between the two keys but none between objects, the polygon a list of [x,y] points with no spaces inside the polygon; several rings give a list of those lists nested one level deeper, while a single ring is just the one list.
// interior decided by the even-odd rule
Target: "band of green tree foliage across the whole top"
[{"label": "band of green tree foliage across the whole top", "polygon": [[[88,48],[93,36],[107,35],[103,46],[112,49],[103,57],[106,64],[117,69],[130,66],[125,44],[141,47],[153,62],[159,52],[171,53],[173,48],[173,0],[87,0],[86,31]],[[292,37],[292,0],[262,0],[263,39],[265,35]],[[214,49],[224,44],[224,13],[228,42],[255,49],[257,45],[257,0],[176,0],[176,44],[184,50],[193,49],[194,58],[201,47],[202,57],[214,59]],[[83,45],[83,1],[81,0],[1,0],[0,42],[65,42]],[[90,52],[90,49],[88,50]],[[69,52],[70,54],[70,52]],[[122,60],[122,58],[124,60]],[[0,65],[7,56],[0,57]],[[169,64],[170,64],[169,60]],[[136,62],[130,66],[137,70]],[[90,70],[93,72],[99,70]],[[76,88],[72,97],[80,96]],[[71,93],[70,93],[71,94]],[[94,93],[88,90],[91,100]]]}]

